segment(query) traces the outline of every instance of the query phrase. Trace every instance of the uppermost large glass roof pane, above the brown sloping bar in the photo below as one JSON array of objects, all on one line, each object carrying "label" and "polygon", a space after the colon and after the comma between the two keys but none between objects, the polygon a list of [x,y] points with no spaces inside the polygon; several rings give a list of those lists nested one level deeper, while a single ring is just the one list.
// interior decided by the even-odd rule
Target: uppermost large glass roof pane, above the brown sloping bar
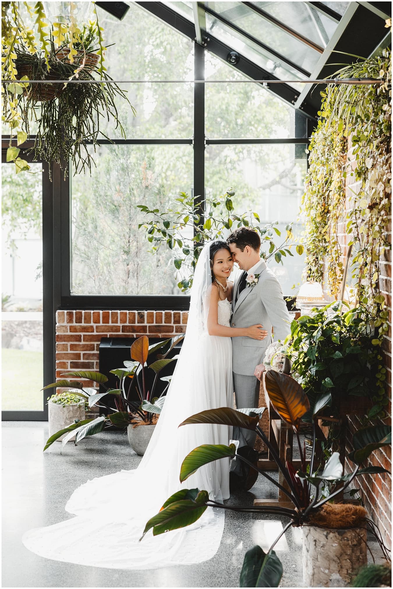
[{"label": "uppermost large glass roof pane, above the brown sloping bar", "polygon": [[310,2],[252,2],[251,4],[322,48],[326,47],[338,25],[337,21],[318,11]]}]

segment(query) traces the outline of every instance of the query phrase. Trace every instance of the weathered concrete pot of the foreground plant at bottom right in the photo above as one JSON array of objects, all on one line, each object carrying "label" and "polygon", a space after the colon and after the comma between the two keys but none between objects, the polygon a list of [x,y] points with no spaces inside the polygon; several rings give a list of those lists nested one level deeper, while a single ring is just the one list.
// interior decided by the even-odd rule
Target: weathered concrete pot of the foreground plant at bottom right
[{"label": "weathered concrete pot of the foreground plant at bottom right", "polygon": [[364,527],[303,526],[303,582],[305,587],[345,587],[367,564]]}]

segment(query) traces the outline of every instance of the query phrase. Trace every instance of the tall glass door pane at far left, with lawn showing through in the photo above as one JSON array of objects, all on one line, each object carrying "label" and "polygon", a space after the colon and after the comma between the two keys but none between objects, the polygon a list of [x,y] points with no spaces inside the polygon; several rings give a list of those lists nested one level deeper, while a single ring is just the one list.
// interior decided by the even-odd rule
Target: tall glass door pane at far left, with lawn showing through
[{"label": "tall glass door pane at far left, with lawn showing through", "polygon": [[42,411],[42,175],[2,164],[2,410]]}]

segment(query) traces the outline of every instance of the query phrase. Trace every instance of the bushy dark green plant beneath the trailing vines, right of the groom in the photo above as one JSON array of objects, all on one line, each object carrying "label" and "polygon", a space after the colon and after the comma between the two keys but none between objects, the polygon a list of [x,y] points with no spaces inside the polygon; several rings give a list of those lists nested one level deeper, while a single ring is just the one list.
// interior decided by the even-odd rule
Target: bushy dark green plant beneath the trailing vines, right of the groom
[{"label": "bushy dark green plant beneath the trailing vines, right of the groom", "polygon": [[[332,416],[368,412],[384,418],[386,369],[367,310],[337,301],[291,323],[285,355],[314,405],[327,397]],[[326,405],[325,405],[326,406]]]}]

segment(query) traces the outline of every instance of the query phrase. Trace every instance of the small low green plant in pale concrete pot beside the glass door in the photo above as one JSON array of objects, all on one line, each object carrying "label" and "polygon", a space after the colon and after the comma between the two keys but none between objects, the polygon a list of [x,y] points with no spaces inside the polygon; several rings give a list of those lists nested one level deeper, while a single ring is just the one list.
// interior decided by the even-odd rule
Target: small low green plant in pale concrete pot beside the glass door
[{"label": "small low green plant in pale concrete pot beside the glass door", "polygon": [[[88,408],[87,399],[80,398],[72,390],[48,397],[49,438],[70,423],[83,421]],[[61,442],[63,437],[64,435],[57,438],[58,441]]]}]

